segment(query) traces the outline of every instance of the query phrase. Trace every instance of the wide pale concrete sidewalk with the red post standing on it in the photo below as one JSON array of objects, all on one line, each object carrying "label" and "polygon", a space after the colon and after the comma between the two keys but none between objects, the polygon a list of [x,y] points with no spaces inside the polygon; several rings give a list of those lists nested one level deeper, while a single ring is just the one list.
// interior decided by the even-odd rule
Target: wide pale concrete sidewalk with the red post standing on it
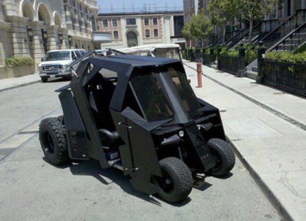
[{"label": "wide pale concrete sidewalk with the red post standing on it", "polygon": [[[306,218],[306,99],[184,61],[196,95],[220,109],[237,155],[285,219]],[[256,202],[254,202],[256,203]]]}]

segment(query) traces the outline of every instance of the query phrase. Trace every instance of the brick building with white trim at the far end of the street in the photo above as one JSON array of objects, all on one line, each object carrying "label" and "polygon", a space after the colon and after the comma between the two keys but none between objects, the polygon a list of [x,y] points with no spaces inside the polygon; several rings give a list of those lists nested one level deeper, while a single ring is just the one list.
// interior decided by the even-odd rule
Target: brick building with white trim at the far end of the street
[{"label": "brick building with white trim at the far end of the street", "polygon": [[99,13],[99,31],[111,33],[111,42],[101,48],[124,48],[145,44],[179,43],[182,36],[183,11]]}]

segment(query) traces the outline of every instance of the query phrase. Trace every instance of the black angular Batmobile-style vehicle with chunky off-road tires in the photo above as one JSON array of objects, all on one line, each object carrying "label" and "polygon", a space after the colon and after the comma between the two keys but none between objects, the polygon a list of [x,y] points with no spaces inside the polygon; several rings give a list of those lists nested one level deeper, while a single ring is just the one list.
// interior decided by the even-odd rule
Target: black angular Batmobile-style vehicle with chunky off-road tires
[{"label": "black angular Batmobile-style vehicle with chunky off-road tires", "polygon": [[93,158],[122,170],[135,189],[174,203],[190,194],[193,173],[232,170],[219,110],[196,97],[179,60],[88,55],[57,90],[64,115],[40,123],[49,162]]}]

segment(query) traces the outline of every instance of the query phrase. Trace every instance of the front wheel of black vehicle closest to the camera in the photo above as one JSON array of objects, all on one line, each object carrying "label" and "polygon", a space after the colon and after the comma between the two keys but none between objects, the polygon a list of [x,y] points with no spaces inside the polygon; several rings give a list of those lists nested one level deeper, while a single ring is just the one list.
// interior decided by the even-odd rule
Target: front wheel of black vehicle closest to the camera
[{"label": "front wheel of black vehicle closest to the camera", "polygon": [[179,203],[186,199],[192,190],[193,179],[187,165],[175,157],[160,160],[163,177],[154,181],[161,191],[158,195],[171,203]]}]

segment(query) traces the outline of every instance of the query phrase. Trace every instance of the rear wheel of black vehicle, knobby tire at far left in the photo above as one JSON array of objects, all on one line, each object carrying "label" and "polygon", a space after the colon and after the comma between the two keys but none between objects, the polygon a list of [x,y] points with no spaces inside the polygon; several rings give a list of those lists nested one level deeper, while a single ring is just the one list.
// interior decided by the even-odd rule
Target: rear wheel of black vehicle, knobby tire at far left
[{"label": "rear wheel of black vehicle, knobby tire at far left", "polygon": [[39,141],[48,161],[56,165],[67,162],[66,128],[58,118],[46,118],[40,122]]}]

